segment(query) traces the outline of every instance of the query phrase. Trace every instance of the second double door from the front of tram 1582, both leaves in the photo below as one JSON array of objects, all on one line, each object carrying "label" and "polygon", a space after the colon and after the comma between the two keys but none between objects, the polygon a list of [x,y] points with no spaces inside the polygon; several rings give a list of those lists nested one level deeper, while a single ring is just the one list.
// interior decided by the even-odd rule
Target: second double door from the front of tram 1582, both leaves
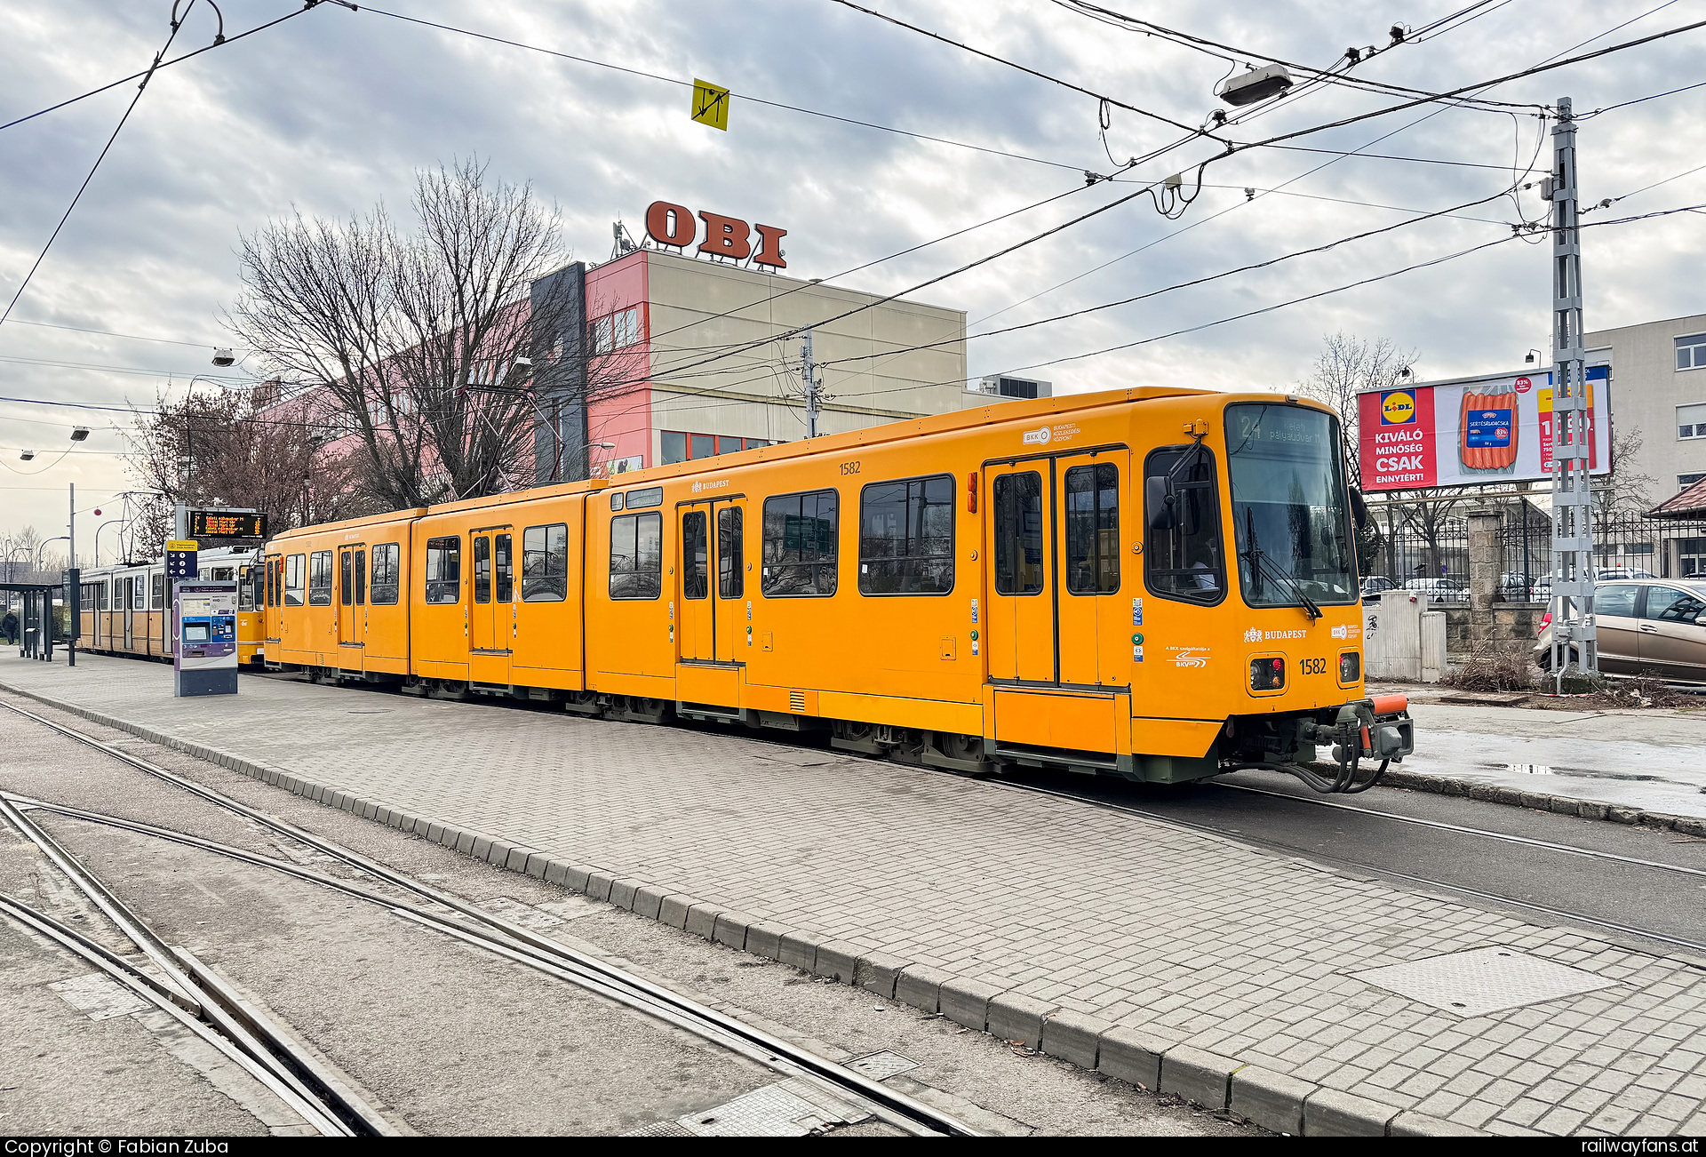
[{"label": "second double door from the front of tram 1582, both leaves", "polygon": [[681,657],[746,659],[746,502],[696,502],[681,510]]}]

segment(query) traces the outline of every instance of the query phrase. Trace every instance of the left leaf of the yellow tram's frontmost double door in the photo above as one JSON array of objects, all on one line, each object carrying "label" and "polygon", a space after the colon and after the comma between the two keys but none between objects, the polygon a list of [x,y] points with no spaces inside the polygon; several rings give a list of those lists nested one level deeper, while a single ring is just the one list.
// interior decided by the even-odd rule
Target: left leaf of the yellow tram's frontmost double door
[{"label": "left leaf of the yellow tram's frontmost double door", "polygon": [[993,466],[986,478],[993,553],[986,628],[989,677],[1056,683],[1054,462]]}]

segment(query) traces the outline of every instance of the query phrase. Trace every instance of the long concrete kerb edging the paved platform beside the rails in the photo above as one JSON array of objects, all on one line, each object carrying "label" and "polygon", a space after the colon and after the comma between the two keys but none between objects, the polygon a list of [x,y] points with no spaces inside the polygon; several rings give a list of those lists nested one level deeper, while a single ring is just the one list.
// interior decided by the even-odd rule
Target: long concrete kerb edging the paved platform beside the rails
[{"label": "long concrete kerb edging the paved platform beside the rails", "polygon": [[[1100,1072],[1152,1092],[1196,1101],[1206,1108],[1230,1109],[1273,1131],[1295,1131],[1286,1128],[1295,1119],[1298,1130],[1310,1137],[1484,1137],[1479,1130],[1407,1109],[1401,1111],[1285,1073],[1242,1065],[1233,1058],[1169,1041],[1145,1029],[1112,1026],[1097,1017],[1007,991],[998,985],[955,976],[882,952],[860,952],[846,942],[819,940],[809,932],[786,930],[744,913],[720,910],[693,896],[674,894],[640,881],[619,879],[601,869],[566,863],[532,848],[508,845],[485,833],[466,831],[437,819],[411,816],[394,805],[368,802],[339,788],[304,780],[283,768],[213,751],[203,744],[193,744],[104,712],[7,683],[0,683],[0,689],[87,718],[92,724],[128,732],[162,747],[217,763],[293,795],[374,817],[375,823],[382,816],[382,823],[389,828],[456,848],[505,870],[544,879],[592,899],[626,908],[648,920],[691,930],[737,951],[776,959],[838,983],[856,985],[923,1012],[940,1014],[957,1024],[993,1032],[1001,1039],[1024,1041],[1030,1048],[1039,1048],[1042,1053],[1080,1068]],[[1680,831],[1680,828],[1677,829]],[[479,852],[474,850],[476,845]],[[500,855],[491,855],[493,848]]]}]

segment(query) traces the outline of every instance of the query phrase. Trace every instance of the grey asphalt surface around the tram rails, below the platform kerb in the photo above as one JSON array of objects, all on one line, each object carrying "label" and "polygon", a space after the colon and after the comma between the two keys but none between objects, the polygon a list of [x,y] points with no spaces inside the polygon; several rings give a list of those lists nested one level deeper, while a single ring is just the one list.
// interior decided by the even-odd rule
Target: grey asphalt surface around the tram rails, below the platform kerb
[{"label": "grey asphalt surface around the tram rails, below the platform kerb", "polygon": [[[983,1131],[1257,1131],[17,701],[836,1060],[897,1053],[913,1067],[891,1085]],[[3,790],[345,874],[309,848],[29,720],[7,713],[0,734]],[[614,1135],[711,1114],[780,1080],[681,1029],[374,904],[201,850],[39,811],[34,817],[162,939],[189,947],[259,998],[404,1131]],[[116,951],[131,951],[32,845],[3,826],[0,891],[90,930]],[[89,971],[0,922],[0,1131],[300,1128],[252,1082],[210,1067],[183,1041],[150,1027],[145,1012],[90,1012],[89,993],[65,986]],[[894,1130],[865,1121],[831,1131]]]}]

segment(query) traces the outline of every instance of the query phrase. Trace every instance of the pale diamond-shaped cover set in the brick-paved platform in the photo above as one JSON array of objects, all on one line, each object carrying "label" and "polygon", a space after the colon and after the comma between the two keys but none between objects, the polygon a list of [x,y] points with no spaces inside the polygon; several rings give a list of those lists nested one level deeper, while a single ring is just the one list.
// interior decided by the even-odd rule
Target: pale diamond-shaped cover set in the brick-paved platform
[{"label": "pale diamond-shaped cover set in the brick-paved platform", "polygon": [[1430,956],[1351,976],[1460,1017],[1578,997],[1616,985],[1580,968],[1500,947]]}]

